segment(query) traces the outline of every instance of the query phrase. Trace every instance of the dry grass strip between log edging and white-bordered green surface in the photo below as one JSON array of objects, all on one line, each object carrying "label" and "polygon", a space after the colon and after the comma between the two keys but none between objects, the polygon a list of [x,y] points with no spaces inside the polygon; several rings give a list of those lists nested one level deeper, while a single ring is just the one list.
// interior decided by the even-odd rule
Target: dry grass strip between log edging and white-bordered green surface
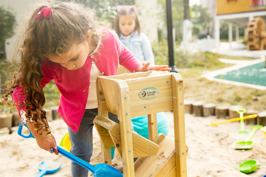
[{"label": "dry grass strip between log edging and white-bordered green surface", "polygon": [[202,70],[195,68],[182,68],[179,73],[184,81],[185,100],[205,101],[228,106],[242,105],[246,109],[265,110],[265,90],[209,81],[206,78],[201,78]]}]

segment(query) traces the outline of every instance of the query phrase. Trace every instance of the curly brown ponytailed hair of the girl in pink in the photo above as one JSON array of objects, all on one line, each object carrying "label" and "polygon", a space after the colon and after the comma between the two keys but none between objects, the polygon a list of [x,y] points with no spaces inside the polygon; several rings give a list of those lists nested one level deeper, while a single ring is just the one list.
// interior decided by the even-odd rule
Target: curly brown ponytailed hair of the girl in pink
[{"label": "curly brown ponytailed hair of the girl in pink", "polygon": [[[38,12],[44,7],[52,8],[49,18],[36,18]],[[23,38],[16,55],[20,58],[20,69],[14,74],[7,85],[0,104],[7,102],[10,106],[17,106],[18,110],[26,111],[26,122],[35,120],[35,130],[51,137],[46,112],[43,110],[45,97],[40,84],[43,78],[42,60],[48,56],[60,56],[68,51],[73,44],[81,44],[86,40],[86,32],[90,30],[93,45],[98,43],[101,33],[98,32],[99,23],[95,10],[82,7],[71,2],[61,2],[48,6],[39,5],[32,12],[24,28]],[[14,103],[13,92],[21,86],[20,103]],[[23,100],[23,95],[25,100]],[[12,96],[12,103],[8,100]],[[21,111],[20,111],[21,116]]]}]

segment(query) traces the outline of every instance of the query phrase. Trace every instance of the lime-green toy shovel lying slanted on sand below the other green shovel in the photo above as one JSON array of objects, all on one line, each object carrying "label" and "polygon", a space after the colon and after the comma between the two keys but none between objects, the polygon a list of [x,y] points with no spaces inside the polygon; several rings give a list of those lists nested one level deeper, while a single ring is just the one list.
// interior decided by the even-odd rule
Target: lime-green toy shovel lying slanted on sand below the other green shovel
[{"label": "lime-green toy shovel lying slanted on sand below the other green shovel", "polygon": [[253,135],[255,134],[255,132],[260,129],[261,127],[263,127],[262,125],[253,125],[253,126],[250,126],[251,128],[251,132],[250,134],[248,135],[247,139],[245,141],[238,141],[238,142],[235,142],[233,144],[233,149],[251,149],[254,145],[254,142],[253,141],[250,141],[251,138],[253,137]]}]

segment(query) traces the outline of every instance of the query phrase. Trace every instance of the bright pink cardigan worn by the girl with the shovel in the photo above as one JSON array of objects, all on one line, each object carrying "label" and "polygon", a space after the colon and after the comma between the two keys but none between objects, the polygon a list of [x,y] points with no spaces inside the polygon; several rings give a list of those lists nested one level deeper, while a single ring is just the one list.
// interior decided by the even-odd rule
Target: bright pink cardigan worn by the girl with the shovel
[{"label": "bright pink cardigan worn by the girl with the shovel", "polygon": [[[89,55],[84,66],[77,70],[68,70],[61,67],[59,63],[49,60],[43,61],[44,77],[41,80],[41,85],[44,87],[51,80],[55,81],[61,93],[57,112],[75,133],[79,129],[86,107],[92,67],[90,63],[93,62],[93,59],[96,60],[95,64],[104,76],[116,75],[118,64],[131,72],[134,72],[135,68],[141,65],[138,59],[122,44],[114,31],[106,30],[105,34],[102,45],[93,54],[93,58]],[[19,90],[21,90],[21,86],[15,88],[13,93],[15,103],[19,103],[18,95],[21,95],[18,93]]]}]

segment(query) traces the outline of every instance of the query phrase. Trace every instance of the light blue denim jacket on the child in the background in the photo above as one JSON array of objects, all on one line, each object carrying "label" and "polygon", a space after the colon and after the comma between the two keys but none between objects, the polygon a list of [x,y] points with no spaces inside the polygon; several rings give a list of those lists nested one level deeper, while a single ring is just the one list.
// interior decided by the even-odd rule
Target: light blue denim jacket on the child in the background
[{"label": "light blue denim jacket on the child in the background", "polygon": [[120,35],[119,39],[139,61],[151,62],[150,65],[154,65],[151,41],[144,33],[139,35],[138,32],[133,31],[127,39],[123,34]]}]

